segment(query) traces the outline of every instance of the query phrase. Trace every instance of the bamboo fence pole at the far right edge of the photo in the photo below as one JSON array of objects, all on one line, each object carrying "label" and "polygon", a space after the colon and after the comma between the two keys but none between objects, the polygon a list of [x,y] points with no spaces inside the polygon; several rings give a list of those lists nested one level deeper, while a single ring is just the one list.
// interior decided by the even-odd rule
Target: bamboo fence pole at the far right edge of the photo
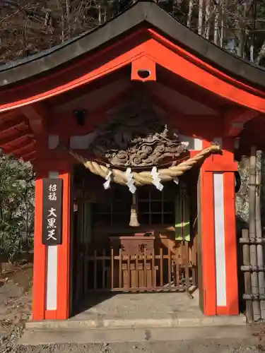
[{"label": "bamboo fence pole at the far right edge of the photo", "polygon": [[[257,151],[257,171],[256,171],[256,237],[262,237],[261,227],[261,163],[262,152]],[[263,245],[257,244],[257,265],[263,268]],[[259,294],[265,294],[264,272],[258,272]],[[261,320],[265,319],[265,301],[260,301]]]}]

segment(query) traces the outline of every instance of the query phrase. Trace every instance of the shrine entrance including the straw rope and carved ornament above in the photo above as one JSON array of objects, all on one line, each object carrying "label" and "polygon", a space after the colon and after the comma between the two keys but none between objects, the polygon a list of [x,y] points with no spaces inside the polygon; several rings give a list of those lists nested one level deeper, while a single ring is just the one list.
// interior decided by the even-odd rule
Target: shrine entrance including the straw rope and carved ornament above
[{"label": "shrine entrance including the straw rope and carved ornament above", "polygon": [[86,138],[86,157],[68,148],[78,161],[73,308],[93,292],[191,296],[198,285],[199,171],[219,146],[191,152],[137,92]]}]

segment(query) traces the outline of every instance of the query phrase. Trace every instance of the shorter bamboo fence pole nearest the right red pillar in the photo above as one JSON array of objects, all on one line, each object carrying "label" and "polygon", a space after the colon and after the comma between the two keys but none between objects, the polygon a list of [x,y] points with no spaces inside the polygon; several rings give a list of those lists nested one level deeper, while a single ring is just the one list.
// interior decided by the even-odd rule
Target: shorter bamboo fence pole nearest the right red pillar
[{"label": "shorter bamboo fence pole nearest the right red pillar", "polygon": [[[242,238],[249,239],[249,232],[247,229],[242,230]],[[243,264],[245,266],[250,265],[250,256],[249,256],[249,244],[243,244]],[[252,285],[251,285],[251,274],[249,271],[244,273],[244,282],[245,282],[245,294],[252,294]],[[248,323],[253,321],[253,311],[252,311],[252,301],[246,300],[246,318]]]}]

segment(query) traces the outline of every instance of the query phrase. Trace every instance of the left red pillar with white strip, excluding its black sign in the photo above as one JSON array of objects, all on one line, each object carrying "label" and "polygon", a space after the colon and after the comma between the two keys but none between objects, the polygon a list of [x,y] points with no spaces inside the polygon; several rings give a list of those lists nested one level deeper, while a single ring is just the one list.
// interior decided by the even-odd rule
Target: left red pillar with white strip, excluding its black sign
[{"label": "left red pillar with white strip, excluding its black sign", "polygon": [[[34,321],[69,318],[71,234],[71,165],[57,161],[39,164],[35,182],[35,242],[33,273]],[[62,244],[42,245],[42,179],[63,180]]]}]

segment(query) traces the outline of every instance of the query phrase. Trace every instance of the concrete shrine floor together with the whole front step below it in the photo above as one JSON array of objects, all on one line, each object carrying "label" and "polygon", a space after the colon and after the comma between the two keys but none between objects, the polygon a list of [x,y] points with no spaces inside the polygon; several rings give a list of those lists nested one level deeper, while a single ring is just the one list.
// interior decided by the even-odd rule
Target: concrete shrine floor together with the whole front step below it
[{"label": "concrete shrine floor together with the whole front step below it", "polygon": [[[105,300],[103,300],[105,299]],[[114,343],[229,338],[248,335],[243,316],[204,316],[185,293],[91,297],[87,309],[67,321],[28,322],[20,343]],[[231,331],[231,328],[233,331]],[[249,335],[251,337],[251,335]]]}]

